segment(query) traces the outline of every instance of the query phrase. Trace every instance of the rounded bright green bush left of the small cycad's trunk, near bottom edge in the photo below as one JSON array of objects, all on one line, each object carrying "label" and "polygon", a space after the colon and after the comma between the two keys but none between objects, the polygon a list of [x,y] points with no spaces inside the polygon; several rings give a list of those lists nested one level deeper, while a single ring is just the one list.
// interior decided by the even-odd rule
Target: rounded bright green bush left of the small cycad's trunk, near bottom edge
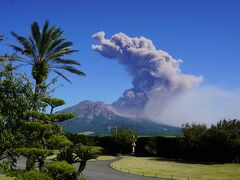
[{"label": "rounded bright green bush left of the small cycad's trunk, near bottom edge", "polygon": [[45,165],[48,174],[54,180],[75,180],[77,179],[77,170],[66,161],[53,161]]}]

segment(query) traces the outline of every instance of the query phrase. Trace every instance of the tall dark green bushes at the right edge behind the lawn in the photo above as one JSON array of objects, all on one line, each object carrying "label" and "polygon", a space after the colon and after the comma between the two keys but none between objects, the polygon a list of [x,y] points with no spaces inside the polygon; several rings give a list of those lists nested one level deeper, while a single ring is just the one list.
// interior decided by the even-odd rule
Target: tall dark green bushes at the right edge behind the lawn
[{"label": "tall dark green bushes at the right edge behind the lawn", "polygon": [[[203,125],[204,126],[204,125]],[[240,157],[240,121],[222,120],[210,128],[191,125],[183,128],[184,158],[238,162]],[[191,133],[189,133],[191,132]],[[194,134],[194,135],[193,135]]]}]

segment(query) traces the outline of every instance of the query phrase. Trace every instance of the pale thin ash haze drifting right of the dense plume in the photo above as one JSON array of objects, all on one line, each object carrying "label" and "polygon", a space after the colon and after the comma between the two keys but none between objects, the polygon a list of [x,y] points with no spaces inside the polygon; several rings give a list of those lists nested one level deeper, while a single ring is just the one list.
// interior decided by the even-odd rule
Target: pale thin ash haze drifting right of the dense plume
[{"label": "pale thin ash haze drifting right of the dense plume", "polygon": [[203,85],[172,99],[159,113],[156,100],[149,100],[148,117],[164,124],[204,123],[210,126],[223,119],[240,118],[240,90]]}]

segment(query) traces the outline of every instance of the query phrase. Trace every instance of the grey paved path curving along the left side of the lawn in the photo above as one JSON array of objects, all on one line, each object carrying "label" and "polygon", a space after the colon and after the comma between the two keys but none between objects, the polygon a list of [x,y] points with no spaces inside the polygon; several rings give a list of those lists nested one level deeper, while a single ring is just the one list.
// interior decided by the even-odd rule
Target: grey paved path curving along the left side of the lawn
[{"label": "grey paved path curving along the left side of the lawn", "polygon": [[154,180],[156,178],[132,175],[111,168],[110,164],[119,160],[89,161],[83,174],[90,180]]}]

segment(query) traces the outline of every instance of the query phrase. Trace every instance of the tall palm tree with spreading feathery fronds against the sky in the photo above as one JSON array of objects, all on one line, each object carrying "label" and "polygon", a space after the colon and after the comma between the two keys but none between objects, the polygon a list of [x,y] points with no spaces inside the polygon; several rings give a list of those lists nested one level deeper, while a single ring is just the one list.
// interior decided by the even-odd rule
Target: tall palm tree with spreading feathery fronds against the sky
[{"label": "tall palm tree with spreading feathery fronds against the sky", "polygon": [[21,56],[16,57],[16,61],[20,61],[24,65],[31,65],[32,77],[35,80],[34,110],[38,108],[41,85],[47,79],[49,72],[56,73],[68,82],[71,81],[62,71],[79,76],[85,75],[75,68],[75,65],[80,66],[78,61],[64,58],[65,55],[70,55],[77,50],[71,48],[73,43],[62,36],[63,31],[60,28],[49,26],[49,21],[45,22],[42,30],[40,30],[38,23],[34,22],[28,37],[20,36],[15,32],[11,33],[20,44],[20,46],[10,45],[21,53]]}]

